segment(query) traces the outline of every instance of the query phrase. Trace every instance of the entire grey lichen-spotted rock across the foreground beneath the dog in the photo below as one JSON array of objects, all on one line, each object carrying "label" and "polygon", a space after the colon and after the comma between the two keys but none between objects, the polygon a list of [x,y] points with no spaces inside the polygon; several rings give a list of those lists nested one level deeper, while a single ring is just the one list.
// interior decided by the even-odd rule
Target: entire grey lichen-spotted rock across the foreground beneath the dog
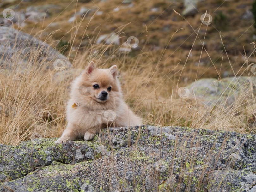
[{"label": "entire grey lichen-spotted rock across the foreground beneath the dog", "polygon": [[0,146],[0,191],[255,191],[256,135],[185,127],[102,129]]}]

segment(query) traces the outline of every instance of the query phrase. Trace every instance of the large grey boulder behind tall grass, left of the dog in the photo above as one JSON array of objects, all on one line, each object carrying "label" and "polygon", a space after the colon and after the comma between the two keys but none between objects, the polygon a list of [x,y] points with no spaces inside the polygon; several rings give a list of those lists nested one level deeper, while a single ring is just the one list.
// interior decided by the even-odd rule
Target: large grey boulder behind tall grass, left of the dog
[{"label": "large grey boulder behind tall grass, left of the dog", "polygon": [[64,55],[27,33],[0,26],[0,37],[0,69],[5,73],[11,69],[24,72],[32,65],[54,70],[64,70],[71,66]]}]

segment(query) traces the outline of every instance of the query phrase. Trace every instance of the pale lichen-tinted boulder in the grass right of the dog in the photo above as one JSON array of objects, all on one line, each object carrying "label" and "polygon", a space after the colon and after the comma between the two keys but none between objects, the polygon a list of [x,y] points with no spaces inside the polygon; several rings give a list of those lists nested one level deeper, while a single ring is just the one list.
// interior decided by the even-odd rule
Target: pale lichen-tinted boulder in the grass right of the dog
[{"label": "pale lichen-tinted boulder in the grass right of the dog", "polygon": [[224,100],[226,105],[232,105],[241,94],[256,94],[256,77],[227,77],[222,80],[204,78],[191,83],[187,88],[190,98],[197,99],[203,105],[215,105]]}]

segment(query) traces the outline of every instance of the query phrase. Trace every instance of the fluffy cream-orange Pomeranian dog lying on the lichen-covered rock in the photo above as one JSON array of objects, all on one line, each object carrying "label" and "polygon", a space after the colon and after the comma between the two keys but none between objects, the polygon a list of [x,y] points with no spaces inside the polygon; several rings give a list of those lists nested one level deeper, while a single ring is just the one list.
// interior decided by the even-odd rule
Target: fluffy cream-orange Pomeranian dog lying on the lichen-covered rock
[{"label": "fluffy cream-orange Pomeranian dog lying on the lichen-covered rock", "polygon": [[71,84],[67,127],[55,144],[91,140],[101,128],[142,125],[122,98],[117,66],[97,69],[91,61]]}]

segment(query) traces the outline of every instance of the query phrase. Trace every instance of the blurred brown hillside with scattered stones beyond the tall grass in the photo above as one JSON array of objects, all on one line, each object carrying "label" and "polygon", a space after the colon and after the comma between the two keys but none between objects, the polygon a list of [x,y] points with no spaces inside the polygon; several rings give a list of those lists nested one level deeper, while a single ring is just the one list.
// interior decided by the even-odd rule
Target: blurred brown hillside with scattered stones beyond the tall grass
[{"label": "blurred brown hillside with scattered stones beyond the tall grass", "polygon": [[[3,0],[1,10],[10,8],[15,17],[12,21],[2,18],[1,22],[4,25],[13,22],[14,28],[43,41],[48,38],[48,43],[64,54],[70,45],[73,50],[83,51],[84,47],[101,42],[101,35],[111,37],[113,33],[118,35],[112,37],[116,38],[113,45],[118,51],[127,51],[122,43],[134,36],[139,44],[128,57],[141,54],[145,57],[143,62],[156,65],[160,61],[159,68],[164,65],[173,69],[178,63],[184,65],[192,49],[183,70],[183,80],[188,83],[195,80],[195,75],[197,78],[219,78],[241,73],[245,54],[252,52],[254,45],[251,43],[256,39],[252,4],[252,0]],[[209,25],[202,24],[200,19],[206,11],[212,17]],[[175,31],[177,33],[173,35]],[[196,38],[197,33],[200,40]],[[207,52],[202,51],[200,41]],[[113,57],[119,54],[118,51]],[[70,60],[74,57],[71,54]],[[250,62],[254,62],[253,57]],[[180,68],[174,71],[178,70]]]}]

